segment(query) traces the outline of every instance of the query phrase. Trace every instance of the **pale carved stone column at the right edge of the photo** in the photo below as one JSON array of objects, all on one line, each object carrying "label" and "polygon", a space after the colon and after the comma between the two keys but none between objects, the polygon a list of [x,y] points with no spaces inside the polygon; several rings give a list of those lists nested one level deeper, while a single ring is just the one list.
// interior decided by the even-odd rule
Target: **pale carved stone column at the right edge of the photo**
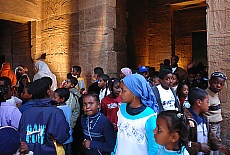
[{"label": "pale carved stone column at the right edge of the photo", "polygon": [[226,87],[220,93],[222,102],[222,143],[230,148],[229,111],[230,111],[230,1],[207,0],[207,37],[209,75],[221,71],[228,77]]}]

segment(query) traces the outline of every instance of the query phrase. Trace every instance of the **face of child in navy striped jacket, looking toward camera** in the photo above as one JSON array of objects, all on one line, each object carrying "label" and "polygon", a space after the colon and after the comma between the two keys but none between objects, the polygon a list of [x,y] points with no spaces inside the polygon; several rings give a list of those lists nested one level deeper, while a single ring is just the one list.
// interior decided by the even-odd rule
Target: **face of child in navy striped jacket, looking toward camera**
[{"label": "face of child in navy striped jacket, looking toward camera", "polygon": [[100,103],[93,96],[86,96],[83,99],[83,110],[86,115],[94,116],[98,113]]}]

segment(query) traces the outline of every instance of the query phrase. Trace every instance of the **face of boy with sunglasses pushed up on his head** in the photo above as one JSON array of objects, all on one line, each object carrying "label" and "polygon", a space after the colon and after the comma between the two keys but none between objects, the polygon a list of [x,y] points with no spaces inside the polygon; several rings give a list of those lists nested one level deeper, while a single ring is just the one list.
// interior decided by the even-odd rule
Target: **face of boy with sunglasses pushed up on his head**
[{"label": "face of boy with sunglasses pushed up on his head", "polygon": [[220,92],[224,85],[225,85],[225,80],[221,77],[213,77],[212,79],[209,80],[210,84],[210,90],[213,91],[214,93]]}]

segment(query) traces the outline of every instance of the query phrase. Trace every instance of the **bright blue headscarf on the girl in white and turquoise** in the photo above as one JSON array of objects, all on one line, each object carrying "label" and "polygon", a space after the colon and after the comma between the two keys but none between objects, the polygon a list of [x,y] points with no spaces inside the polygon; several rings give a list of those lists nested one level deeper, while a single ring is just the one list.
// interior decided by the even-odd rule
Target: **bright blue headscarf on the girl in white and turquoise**
[{"label": "bright blue headscarf on the girl in white and turquoise", "polygon": [[141,103],[158,112],[156,97],[146,79],[140,74],[130,74],[122,79],[125,86],[138,98]]}]

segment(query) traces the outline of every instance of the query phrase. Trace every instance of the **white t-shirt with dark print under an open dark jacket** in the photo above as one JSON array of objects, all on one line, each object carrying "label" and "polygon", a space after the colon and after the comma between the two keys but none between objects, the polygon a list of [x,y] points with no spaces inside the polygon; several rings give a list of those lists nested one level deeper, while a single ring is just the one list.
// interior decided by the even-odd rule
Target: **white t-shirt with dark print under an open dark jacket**
[{"label": "white t-shirt with dark print under an open dark jacket", "polygon": [[161,104],[163,106],[164,111],[166,110],[176,110],[175,107],[175,97],[173,95],[173,92],[171,89],[164,89],[161,85],[157,86],[160,98],[161,98]]}]

